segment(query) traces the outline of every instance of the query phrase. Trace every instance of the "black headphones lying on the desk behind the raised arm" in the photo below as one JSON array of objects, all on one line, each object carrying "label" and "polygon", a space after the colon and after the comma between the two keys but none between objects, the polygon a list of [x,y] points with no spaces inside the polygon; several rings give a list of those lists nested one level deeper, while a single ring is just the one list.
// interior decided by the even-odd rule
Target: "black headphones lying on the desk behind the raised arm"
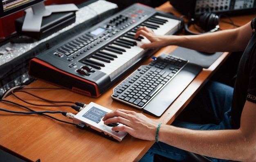
[{"label": "black headphones lying on the desk behind the raised arm", "polygon": [[219,16],[214,13],[204,13],[202,15],[196,16],[195,19],[189,20],[189,22],[185,23],[185,31],[189,34],[201,34],[195,33],[189,30],[189,26],[191,24],[197,24],[202,30],[206,31],[205,33],[210,33],[214,31],[218,31],[219,29]]}]

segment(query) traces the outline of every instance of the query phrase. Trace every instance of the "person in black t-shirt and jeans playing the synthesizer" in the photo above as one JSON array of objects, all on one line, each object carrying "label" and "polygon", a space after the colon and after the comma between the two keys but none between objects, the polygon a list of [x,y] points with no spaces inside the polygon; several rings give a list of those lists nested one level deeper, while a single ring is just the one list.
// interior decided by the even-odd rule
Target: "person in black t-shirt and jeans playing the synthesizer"
[{"label": "person in black t-shirt and jeans playing the synthesizer", "polygon": [[[256,161],[255,20],[236,29],[200,35],[159,36],[147,27],[139,28],[135,38],[142,35],[150,40],[141,46],[144,49],[177,45],[208,53],[244,51],[234,89],[209,81],[171,125],[124,109],[107,113],[104,123],[119,122],[124,126],[112,127],[113,131],[126,131],[142,140],[156,140],[141,161],[153,161],[155,154],[192,161],[186,151],[211,157],[213,161]],[[201,117],[204,120],[199,120]]]}]

